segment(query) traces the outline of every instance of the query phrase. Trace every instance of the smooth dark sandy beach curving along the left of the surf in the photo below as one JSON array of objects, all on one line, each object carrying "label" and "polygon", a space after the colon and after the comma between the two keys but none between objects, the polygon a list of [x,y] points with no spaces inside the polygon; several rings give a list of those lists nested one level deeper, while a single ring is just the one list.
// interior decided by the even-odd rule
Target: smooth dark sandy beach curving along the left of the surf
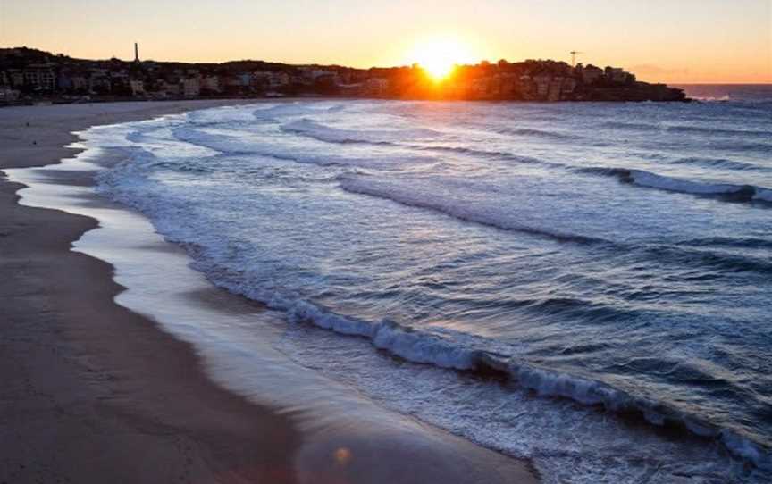
[{"label": "smooth dark sandy beach curving along the left of the surf", "polygon": [[[64,147],[77,141],[72,131],[222,104],[232,103],[3,109],[0,169],[72,156]],[[325,444],[311,459],[320,473],[298,476],[304,436],[291,415],[215,385],[188,343],[115,304],[122,287],[113,266],[70,250],[96,221],[21,206],[20,188],[0,181],[0,482],[536,481],[526,463],[441,431],[442,446],[412,455],[407,472],[383,471],[406,455],[399,442],[379,448],[376,440],[377,471],[367,471],[366,458],[356,471],[340,470]],[[446,448],[468,455],[474,469],[438,465]]]}]

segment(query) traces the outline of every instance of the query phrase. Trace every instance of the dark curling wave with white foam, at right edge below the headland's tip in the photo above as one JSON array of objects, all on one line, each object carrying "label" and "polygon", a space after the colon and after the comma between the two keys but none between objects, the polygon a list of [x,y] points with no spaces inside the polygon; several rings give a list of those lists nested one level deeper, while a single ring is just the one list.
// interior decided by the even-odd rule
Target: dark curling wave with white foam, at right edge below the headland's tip
[{"label": "dark curling wave with white foam, at right edge below the headland's tip", "polygon": [[710,183],[680,179],[652,173],[651,171],[627,168],[580,168],[576,171],[601,176],[616,177],[625,183],[639,187],[657,188],[669,192],[686,193],[699,196],[714,196],[730,202],[770,202],[772,192],[769,188],[753,185],[735,185],[733,183]]}]

